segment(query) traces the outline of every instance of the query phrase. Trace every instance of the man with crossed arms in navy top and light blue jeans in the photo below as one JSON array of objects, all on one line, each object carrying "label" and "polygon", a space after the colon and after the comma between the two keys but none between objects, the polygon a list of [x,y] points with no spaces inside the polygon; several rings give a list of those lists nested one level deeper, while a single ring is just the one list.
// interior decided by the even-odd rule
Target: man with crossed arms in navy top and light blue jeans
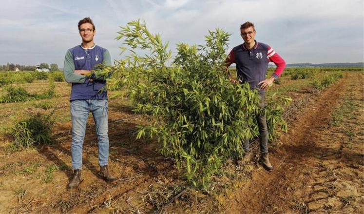
[{"label": "man with crossed arms in navy top and light blue jeans", "polygon": [[108,97],[107,91],[100,90],[105,78],[94,73],[96,64],[111,65],[108,50],[94,43],[95,25],[90,18],[78,22],[82,43],[69,49],[64,60],[63,73],[68,83],[72,83],[70,109],[72,120],[72,167],[73,179],[69,188],[77,187],[82,181],[82,145],[86,132],[86,122],[91,112],[95,125],[98,143],[99,175],[105,181],[116,178],[108,171],[109,136],[108,136]]}]

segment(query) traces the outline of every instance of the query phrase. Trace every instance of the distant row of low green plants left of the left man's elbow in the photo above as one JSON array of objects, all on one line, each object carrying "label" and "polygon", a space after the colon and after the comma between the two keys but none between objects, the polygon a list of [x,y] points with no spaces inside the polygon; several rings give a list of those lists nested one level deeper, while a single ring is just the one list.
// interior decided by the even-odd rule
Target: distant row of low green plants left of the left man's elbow
[{"label": "distant row of low green plants left of the left man's elbow", "polygon": [[13,83],[31,83],[34,80],[45,80],[52,78],[56,82],[64,81],[63,73],[56,72],[1,72],[0,87]]}]

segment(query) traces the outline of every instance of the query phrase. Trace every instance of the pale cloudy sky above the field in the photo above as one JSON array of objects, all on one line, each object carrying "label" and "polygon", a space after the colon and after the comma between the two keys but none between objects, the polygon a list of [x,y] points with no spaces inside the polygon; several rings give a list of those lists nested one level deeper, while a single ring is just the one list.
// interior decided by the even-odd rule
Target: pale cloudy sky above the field
[{"label": "pale cloudy sky above the field", "polygon": [[1,0],[0,64],[63,67],[67,49],[81,42],[77,22],[91,17],[96,44],[118,59],[118,26],[145,19],[170,41],[203,44],[216,27],[242,43],[241,23],[255,23],[258,41],[287,63],[363,62],[363,0]]}]

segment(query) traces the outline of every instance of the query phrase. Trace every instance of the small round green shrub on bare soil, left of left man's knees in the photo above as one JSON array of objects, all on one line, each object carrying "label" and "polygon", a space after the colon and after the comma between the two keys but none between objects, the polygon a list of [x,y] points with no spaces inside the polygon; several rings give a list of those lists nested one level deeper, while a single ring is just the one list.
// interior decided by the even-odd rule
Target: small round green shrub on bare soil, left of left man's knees
[{"label": "small round green shrub on bare soil, left of left man's knees", "polygon": [[14,124],[11,136],[17,149],[52,143],[53,112],[48,115],[31,113]]}]

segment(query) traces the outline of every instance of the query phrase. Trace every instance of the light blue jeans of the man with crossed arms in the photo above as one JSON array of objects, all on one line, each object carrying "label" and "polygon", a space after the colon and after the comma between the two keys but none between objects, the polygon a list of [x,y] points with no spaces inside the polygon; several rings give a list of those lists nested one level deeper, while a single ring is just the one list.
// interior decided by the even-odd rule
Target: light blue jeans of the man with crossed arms
[{"label": "light blue jeans of the man with crossed arms", "polygon": [[72,168],[82,169],[82,145],[86,133],[86,122],[91,112],[94,116],[98,163],[100,166],[108,164],[109,136],[108,136],[108,103],[107,99],[72,100],[70,102],[72,120]]}]

